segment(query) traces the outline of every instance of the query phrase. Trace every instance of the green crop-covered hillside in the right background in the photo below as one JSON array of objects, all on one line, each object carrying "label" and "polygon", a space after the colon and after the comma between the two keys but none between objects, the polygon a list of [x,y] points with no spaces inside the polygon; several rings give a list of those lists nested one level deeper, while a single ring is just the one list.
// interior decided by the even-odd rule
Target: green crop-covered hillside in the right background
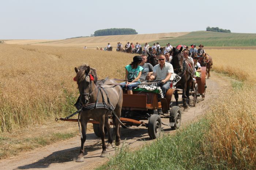
[{"label": "green crop-covered hillside in the right background", "polygon": [[[158,40],[160,46],[164,47],[167,43],[172,46],[183,44],[190,46],[191,44],[203,44],[208,47],[251,47],[256,46],[256,33],[224,33],[224,32],[206,32],[196,31],[186,35],[174,37],[170,39]],[[150,46],[156,43],[151,41]]]}]

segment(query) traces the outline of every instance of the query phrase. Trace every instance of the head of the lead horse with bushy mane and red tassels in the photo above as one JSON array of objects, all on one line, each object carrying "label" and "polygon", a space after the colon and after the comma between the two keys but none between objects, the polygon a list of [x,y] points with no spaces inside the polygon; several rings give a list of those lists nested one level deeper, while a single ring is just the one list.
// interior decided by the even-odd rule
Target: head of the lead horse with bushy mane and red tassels
[{"label": "head of the lead horse with bushy mane and red tassels", "polygon": [[96,70],[84,64],[78,68],[75,67],[75,72],[76,76],[74,80],[76,80],[78,84],[80,103],[86,105],[88,104],[89,99],[93,94],[93,88],[95,86],[95,82],[97,82],[98,79]]}]

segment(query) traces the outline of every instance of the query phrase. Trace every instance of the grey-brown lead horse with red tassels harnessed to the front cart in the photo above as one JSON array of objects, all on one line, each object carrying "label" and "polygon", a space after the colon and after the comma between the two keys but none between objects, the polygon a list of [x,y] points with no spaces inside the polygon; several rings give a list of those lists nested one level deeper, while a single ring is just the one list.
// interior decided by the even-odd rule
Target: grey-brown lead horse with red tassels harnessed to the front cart
[{"label": "grey-brown lead horse with red tassels harnessed to the front cart", "polygon": [[[78,84],[78,89],[80,92],[79,103],[82,106],[86,106],[91,103],[95,103],[96,100],[98,102],[103,103],[105,101],[108,106],[113,106],[114,112],[117,117],[120,118],[121,108],[123,103],[123,91],[120,86],[110,86],[110,85],[102,85],[99,86],[97,83],[97,74],[96,70],[86,66],[85,64],[80,66],[79,68],[75,67],[76,77],[75,80]],[[106,80],[105,84],[116,83],[114,80]],[[102,88],[108,93],[108,96],[105,92],[102,92]],[[109,100],[108,100],[109,98]],[[109,103],[109,102],[111,103]],[[95,106],[95,105],[94,105]],[[82,110],[80,112],[80,123],[82,127],[82,135],[81,135],[81,148],[80,154],[76,158],[77,162],[83,162],[84,157],[84,142],[86,141],[86,126],[89,119],[93,119],[99,122],[99,131],[101,134],[102,141],[102,153],[101,157],[105,157],[107,155],[106,149],[112,149],[112,136],[110,134],[110,126],[108,121],[108,116],[112,114],[111,110],[106,110],[104,108],[96,108],[92,110]],[[112,114],[113,118],[114,115]],[[113,119],[114,121],[114,119]],[[120,133],[119,133],[119,125],[120,122],[118,120],[113,122],[114,130],[116,134],[116,146],[120,145]],[[105,132],[104,125],[106,125],[106,129],[108,130],[108,145],[105,143]]]}]

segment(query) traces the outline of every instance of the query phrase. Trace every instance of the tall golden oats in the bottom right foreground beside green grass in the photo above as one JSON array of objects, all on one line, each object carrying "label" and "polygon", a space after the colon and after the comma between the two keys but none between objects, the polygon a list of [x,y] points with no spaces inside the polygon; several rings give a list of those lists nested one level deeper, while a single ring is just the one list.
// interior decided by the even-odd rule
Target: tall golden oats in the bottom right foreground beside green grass
[{"label": "tall golden oats in the bottom right foreground beside green grass", "polygon": [[[211,107],[207,137],[208,158],[220,167],[251,169],[256,166],[255,87],[222,95]],[[210,151],[208,151],[210,150]]]}]

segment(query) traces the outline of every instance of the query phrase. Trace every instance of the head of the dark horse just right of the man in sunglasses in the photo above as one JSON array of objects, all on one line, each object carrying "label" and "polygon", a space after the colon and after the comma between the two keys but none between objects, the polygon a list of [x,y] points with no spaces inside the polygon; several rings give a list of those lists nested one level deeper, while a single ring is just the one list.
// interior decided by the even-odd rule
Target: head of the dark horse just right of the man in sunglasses
[{"label": "head of the dark horse just right of the man in sunglasses", "polygon": [[182,72],[183,70],[183,55],[182,55],[182,47],[180,48],[180,50],[176,49],[175,47],[173,47],[172,49],[172,62],[171,64],[173,65],[173,70],[176,73]]}]

